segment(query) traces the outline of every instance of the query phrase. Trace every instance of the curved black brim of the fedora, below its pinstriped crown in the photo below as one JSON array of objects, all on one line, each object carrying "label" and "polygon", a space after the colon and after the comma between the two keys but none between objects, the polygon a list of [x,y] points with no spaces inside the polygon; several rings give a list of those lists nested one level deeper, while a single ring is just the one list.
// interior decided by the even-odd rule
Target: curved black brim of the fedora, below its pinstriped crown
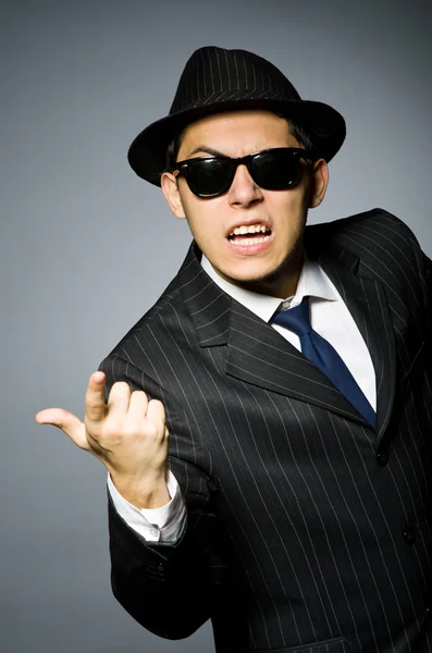
[{"label": "curved black brim of the fedora, below its pinstriped crown", "polygon": [[238,99],[190,108],[171,114],[146,127],[133,140],[127,159],[138,176],[160,186],[166,170],[166,149],[178,132],[190,123],[225,111],[261,109],[292,118],[310,136],[317,156],[333,159],[346,136],[345,120],[335,109],[311,100]]}]

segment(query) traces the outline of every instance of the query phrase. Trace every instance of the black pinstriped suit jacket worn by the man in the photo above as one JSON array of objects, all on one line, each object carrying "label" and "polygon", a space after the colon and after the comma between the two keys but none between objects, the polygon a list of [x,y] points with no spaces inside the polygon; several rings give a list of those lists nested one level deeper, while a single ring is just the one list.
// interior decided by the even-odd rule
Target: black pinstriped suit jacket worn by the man
[{"label": "black pinstriped suit jacket worn by the man", "polygon": [[175,544],[110,504],[113,591],[162,637],[211,617],[218,653],[432,652],[430,261],[378,209],[305,245],[370,349],[377,429],[193,245],[101,366],[163,402],[187,504]]}]

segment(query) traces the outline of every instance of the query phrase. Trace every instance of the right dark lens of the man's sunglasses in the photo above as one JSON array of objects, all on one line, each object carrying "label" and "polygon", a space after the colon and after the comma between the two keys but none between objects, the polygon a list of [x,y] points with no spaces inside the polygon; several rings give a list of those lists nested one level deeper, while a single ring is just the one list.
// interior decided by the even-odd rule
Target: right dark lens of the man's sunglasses
[{"label": "right dark lens of the man's sunglasses", "polygon": [[300,177],[300,158],[289,150],[273,149],[254,157],[251,172],[255,182],[262,188],[291,188]]}]

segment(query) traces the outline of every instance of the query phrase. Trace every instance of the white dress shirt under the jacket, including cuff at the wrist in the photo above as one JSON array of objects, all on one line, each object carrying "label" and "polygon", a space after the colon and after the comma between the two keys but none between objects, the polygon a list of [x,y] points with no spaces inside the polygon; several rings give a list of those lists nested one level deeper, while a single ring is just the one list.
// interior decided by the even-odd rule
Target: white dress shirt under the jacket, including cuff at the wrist
[{"label": "white dress shirt under the jacket, including cuff at the wrist", "polygon": [[[270,322],[281,305],[283,308],[294,308],[301,303],[305,296],[309,296],[312,329],[333,345],[375,410],[375,373],[369,349],[340,293],[317,261],[305,259],[296,294],[288,298],[259,295],[233,285],[215,272],[205,256],[202,256],[201,266],[225,293],[264,322]],[[296,349],[301,350],[300,340],[295,333],[279,324],[272,324],[272,326]],[[161,508],[140,510],[131,505],[118,492],[110,476],[108,476],[108,488],[118,513],[131,528],[146,540],[151,542],[176,540],[182,529],[186,508],[177,481],[171,471],[169,472],[168,491],[172,498]]]}]

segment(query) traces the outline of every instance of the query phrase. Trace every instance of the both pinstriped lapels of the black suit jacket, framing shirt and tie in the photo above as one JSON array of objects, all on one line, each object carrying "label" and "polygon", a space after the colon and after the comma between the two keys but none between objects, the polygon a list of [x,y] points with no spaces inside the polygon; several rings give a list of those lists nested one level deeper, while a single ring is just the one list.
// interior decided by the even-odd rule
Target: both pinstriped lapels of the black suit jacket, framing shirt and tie
[{"label": "both pinstriped lapels of the black suit jacket, framing shirt and tie", "polygon": [[[395,377],[393,332],[383,289],[375,281],[357,276],[358,258],[338,246],[333,256],[319,257],[319,262],[346,301],[371,353],[377,374],[377,430],[380,435],[390,419]],[[199,250],[195,245],[180,279],[200,346],[226,346],[225,372],[229,375],[369,427],[301,353],[211,281],[199,263]]]}]

